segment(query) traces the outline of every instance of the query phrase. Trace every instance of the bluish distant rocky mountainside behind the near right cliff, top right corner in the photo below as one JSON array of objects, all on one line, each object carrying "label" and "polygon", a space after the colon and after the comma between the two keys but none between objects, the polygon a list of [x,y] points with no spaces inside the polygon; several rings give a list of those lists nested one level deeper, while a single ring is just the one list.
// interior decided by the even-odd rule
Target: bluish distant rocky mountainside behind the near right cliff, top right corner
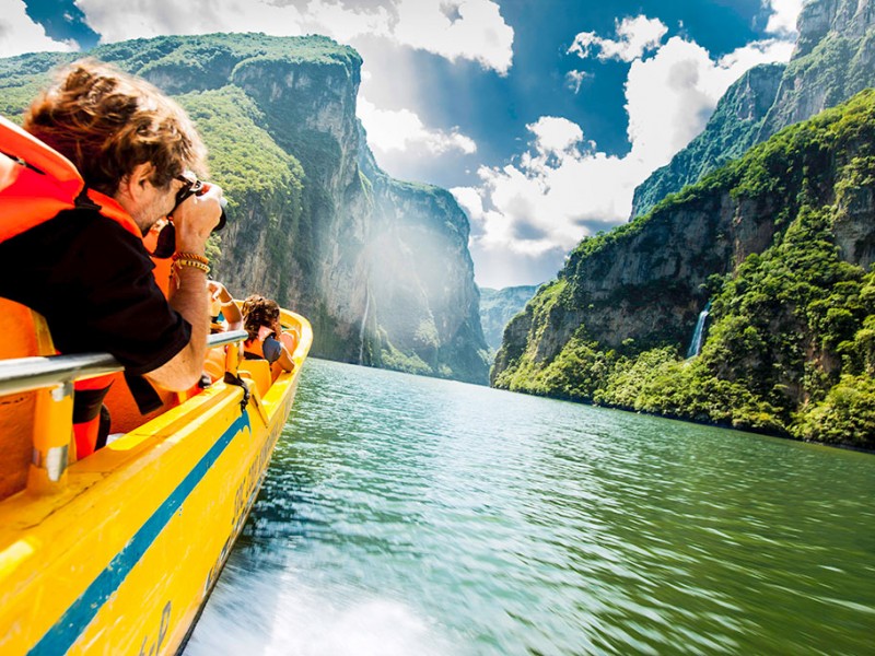
[{"label": "bluish distant rocky mountainside behind the near right cliff, top right corner", "polygon": [[812,0],[790,62],[757,67],[721,98],[704,131],[642,183],[632,218],[782,128],[875,85],[875,0]]}]

